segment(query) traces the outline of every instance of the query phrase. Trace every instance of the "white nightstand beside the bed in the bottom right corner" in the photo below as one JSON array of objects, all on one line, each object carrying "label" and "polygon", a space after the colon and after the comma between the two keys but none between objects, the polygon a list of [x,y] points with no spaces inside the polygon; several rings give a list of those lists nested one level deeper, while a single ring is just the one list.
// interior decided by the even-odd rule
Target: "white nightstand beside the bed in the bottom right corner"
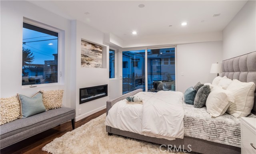
[{"label": "white nightstand beside the bed in the bottom right corner", "polygon": [[241,118],[242,154],[256,154],[256,118]]}]

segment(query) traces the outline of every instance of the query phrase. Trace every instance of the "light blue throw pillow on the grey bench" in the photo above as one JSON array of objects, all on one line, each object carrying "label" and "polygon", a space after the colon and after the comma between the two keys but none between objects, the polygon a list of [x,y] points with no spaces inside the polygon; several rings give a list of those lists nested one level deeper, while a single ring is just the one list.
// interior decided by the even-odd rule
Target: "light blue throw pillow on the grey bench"
[{"label": "light blue throw pillow on the grey bench", "polygon": [[38,92],[32,97],[27,97],[21,94],[17,94],[17,96],[20,102],[22,118],[46,111],[43,104],[42,93]]}]

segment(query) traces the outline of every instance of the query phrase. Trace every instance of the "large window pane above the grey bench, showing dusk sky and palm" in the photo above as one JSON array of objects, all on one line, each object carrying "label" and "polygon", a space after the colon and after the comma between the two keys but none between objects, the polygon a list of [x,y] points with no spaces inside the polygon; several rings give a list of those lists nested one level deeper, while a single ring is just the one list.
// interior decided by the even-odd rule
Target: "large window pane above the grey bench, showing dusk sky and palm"
[{"label": "large window pane above the grey bench, showing dusk sky and palm", "polygon": [[58,82],[58,33],[23,23],[22,85]]}]

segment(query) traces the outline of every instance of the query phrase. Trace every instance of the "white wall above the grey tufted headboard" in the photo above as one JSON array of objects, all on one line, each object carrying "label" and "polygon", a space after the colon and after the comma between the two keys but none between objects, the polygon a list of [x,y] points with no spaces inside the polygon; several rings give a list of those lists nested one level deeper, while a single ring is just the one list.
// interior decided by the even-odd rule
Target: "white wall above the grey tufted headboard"
[{"label": "white wall above the grey tufted headboard", "polygon": [[256,1],[248,0],[223,30],[223,60],[256,51]]}]

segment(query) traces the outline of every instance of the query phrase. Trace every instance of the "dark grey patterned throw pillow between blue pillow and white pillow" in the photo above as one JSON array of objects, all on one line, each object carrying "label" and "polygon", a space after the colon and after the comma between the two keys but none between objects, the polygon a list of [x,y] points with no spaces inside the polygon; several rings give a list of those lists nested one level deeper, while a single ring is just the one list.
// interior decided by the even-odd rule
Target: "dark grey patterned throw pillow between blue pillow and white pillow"
[{"label": "dark grey patterned throw pillow between blue pillow and white pillow", "polygon": [[208,95],[211,92],[211,88],[209,85],[204,85],[201,87],[197,93],[194,100],[194,107],[201,108],[205,105]]}]

